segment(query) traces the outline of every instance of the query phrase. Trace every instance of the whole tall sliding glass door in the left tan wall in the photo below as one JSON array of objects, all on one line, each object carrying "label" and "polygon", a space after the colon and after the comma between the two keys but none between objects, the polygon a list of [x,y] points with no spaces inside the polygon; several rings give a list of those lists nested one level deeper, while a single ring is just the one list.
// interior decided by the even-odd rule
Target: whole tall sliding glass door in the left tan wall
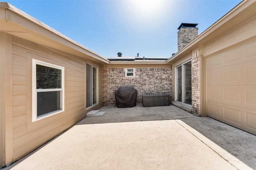
[{"label": "whole tall sliding glass door in the left tan wall", "polygon": [[97,68],[86,64],[86,108],[97,103]]}]

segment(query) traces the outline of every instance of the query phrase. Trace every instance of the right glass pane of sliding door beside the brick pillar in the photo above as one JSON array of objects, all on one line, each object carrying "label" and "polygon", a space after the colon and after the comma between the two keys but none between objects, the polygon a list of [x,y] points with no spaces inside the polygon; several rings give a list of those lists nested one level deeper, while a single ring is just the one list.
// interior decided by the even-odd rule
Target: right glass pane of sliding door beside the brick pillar
[{"label": "right glass pane of sliding door beside the brick pillar", "polygon": [[185,71],[185,103],[192,104],[192,75],[191,75],[191,61],[184,64]]}]

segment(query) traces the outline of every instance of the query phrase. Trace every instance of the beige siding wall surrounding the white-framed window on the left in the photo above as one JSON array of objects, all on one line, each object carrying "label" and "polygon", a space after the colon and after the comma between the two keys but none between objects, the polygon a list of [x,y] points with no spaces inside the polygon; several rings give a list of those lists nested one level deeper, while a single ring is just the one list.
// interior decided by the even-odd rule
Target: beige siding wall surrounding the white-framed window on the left
[{"label": "beige siding wall surrounding the white-framed window on the left", "polygon": [[[13,159],[34,150],[85,115],[84,59],[13,36],[12,116]],[[64,112],[32,122],[32,59],[64,66]]]}]

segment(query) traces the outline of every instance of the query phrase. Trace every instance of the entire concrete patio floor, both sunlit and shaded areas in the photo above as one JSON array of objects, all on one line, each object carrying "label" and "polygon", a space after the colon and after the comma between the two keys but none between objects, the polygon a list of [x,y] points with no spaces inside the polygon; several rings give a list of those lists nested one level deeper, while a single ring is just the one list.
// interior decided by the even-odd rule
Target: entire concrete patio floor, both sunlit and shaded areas
[{"label": "entire concrete patio floor, both sunlit and shaded areas", "polygon": [[105,106],[4,170],[256,169],[256,136],[175,106]]}]

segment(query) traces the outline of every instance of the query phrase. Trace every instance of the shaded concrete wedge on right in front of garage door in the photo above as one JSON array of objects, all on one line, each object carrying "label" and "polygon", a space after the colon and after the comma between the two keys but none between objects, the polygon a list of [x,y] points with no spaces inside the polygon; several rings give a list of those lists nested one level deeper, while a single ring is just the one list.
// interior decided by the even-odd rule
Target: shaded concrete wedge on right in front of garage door
[{"label": "shaded concrete wedge on right in front of garage door", "polygon": [[256,170],[255,135],[210,117],[191,117],[182,121]]}]

